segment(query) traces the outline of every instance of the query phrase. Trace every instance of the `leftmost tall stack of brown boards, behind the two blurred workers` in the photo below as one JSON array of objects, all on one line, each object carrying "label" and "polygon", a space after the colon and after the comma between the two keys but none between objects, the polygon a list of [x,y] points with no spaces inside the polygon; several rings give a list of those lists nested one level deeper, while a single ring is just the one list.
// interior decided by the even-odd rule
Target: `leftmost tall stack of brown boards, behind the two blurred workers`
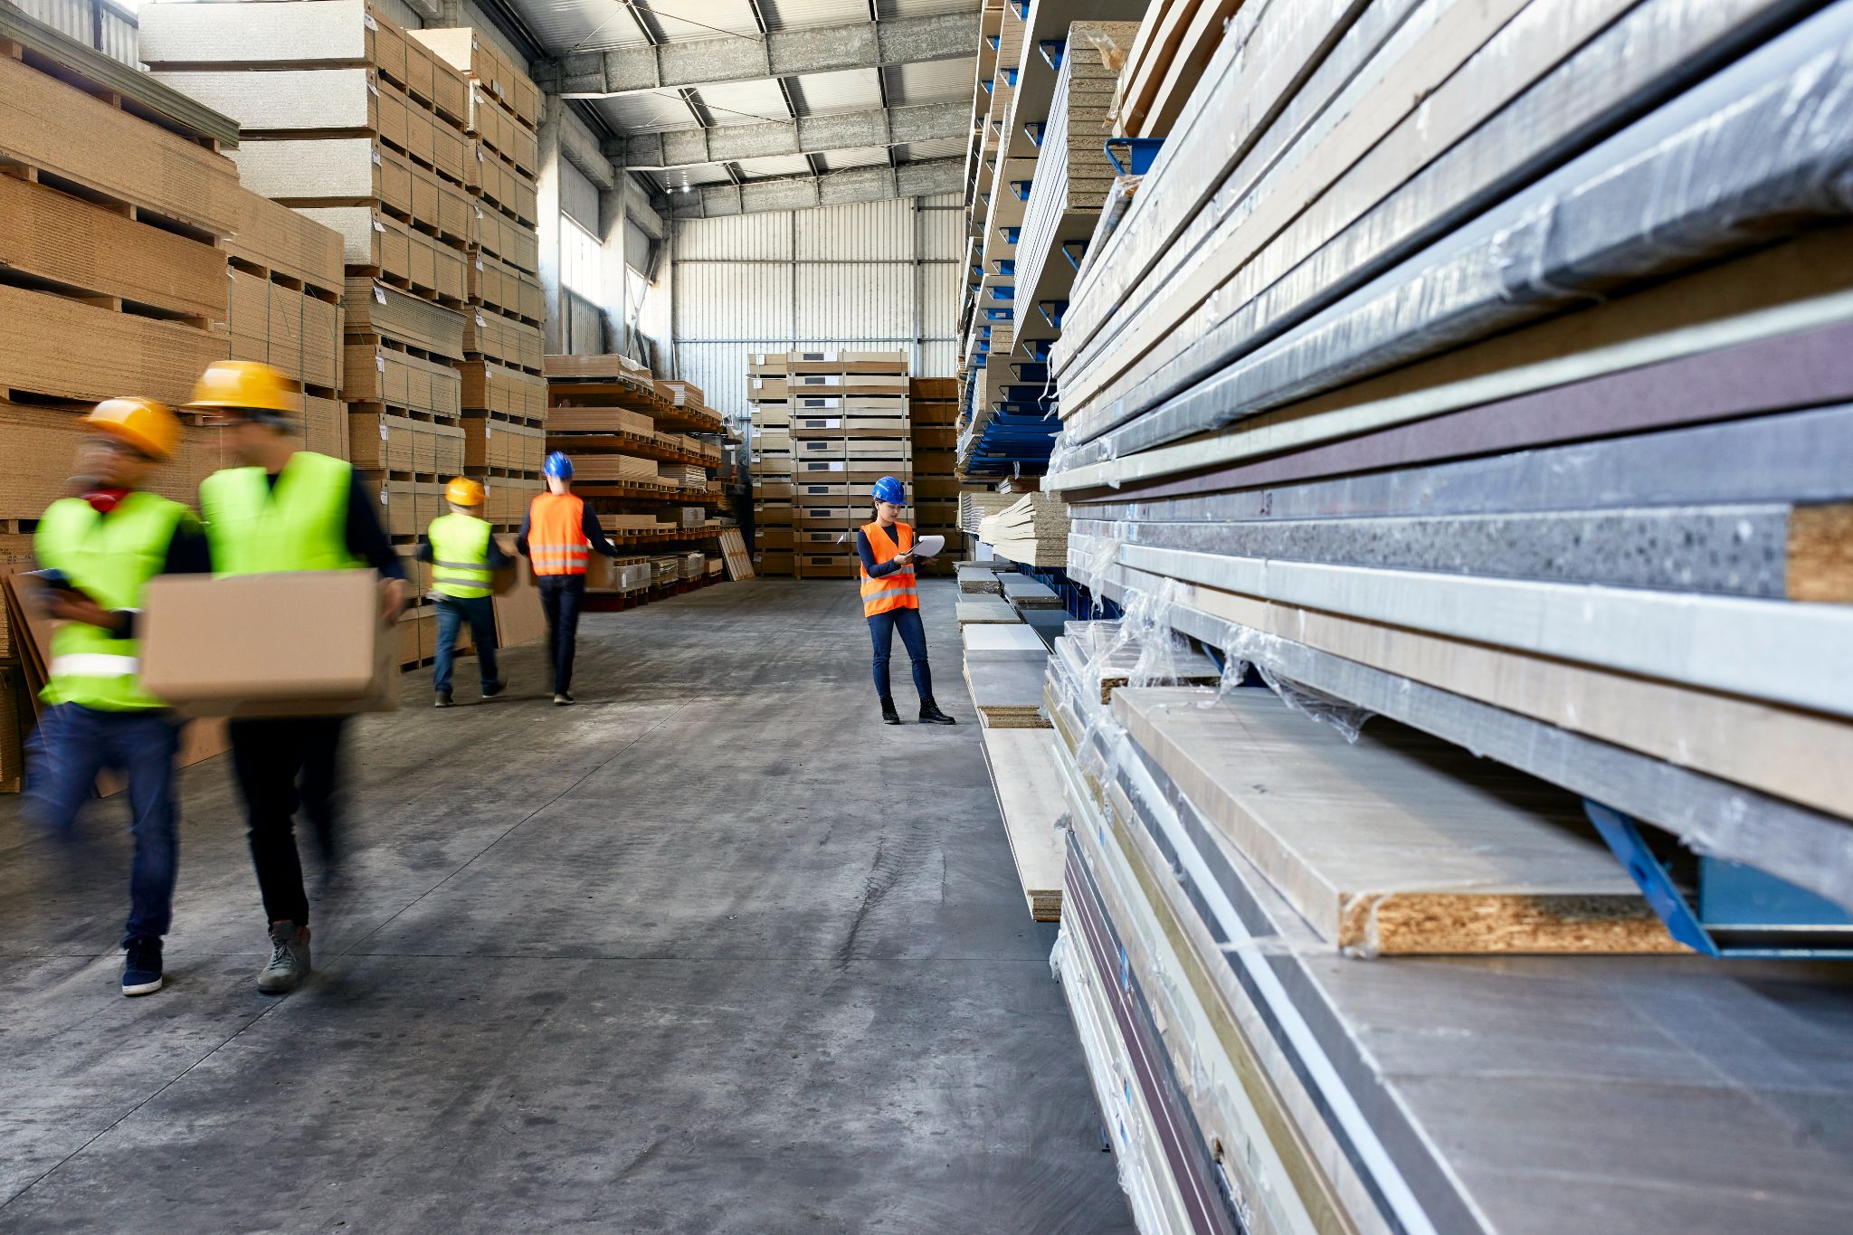
[{"label": "leftmost tall stack of brown boards, behind the two blurred workers", "polygon": [[[226,117],[17,13],[0,50],[0,522],[22,533],[65,496],[89,405],[183,404],[226,356],[241,194]],[[189,428],[154,483],[191,504],[219,461]]]}]

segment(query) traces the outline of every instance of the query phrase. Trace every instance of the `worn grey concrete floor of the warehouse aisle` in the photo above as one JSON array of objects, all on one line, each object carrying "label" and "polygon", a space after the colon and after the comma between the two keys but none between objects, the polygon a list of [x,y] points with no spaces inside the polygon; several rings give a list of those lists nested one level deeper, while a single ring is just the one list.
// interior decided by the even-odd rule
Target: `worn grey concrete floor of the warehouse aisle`
[{"label": "worn grey concrete floor of the warehouse aisle", "polygon": [[408,678],[282,1000],[224,759],[150,998],[124,805],[59,876],[0,800],[0,1229],[1130,1229],[925,605],[956,730],[876,724],[849,583],[587,617],[573,711],[536,648],[493,704]]}]

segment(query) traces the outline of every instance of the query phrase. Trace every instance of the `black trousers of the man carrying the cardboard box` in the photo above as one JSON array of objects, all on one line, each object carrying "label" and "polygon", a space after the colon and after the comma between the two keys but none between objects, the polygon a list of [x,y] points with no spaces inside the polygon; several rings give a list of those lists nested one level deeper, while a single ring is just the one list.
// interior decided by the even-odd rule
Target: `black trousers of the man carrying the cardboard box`
[{"label": "black trousers of the man carrying the cardboard box", "polygon": [[233,720],[232,770],[250,830],[250,861],[258,868],[267,922],[309,924],[309,898],[302,891],[296,857],[296,807],[315,830],[322,863],[337,857],[335,781],[341,765],[341,730],[347,717],[280,717]]}]

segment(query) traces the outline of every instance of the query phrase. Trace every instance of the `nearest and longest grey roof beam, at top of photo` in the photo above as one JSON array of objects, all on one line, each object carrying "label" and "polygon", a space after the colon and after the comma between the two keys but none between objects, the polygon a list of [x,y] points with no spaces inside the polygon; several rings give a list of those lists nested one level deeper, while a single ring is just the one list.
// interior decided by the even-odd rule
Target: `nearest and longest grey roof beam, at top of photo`
[{"label": "nearest and longest grey roof beam, at top of photo", "polygon": [[775,30],[765,35],[687,39],[662,46],[573,52],[534,61],[530,72],[548,94],[611,98],[684,85],[958,59],[973,56],[977,48],[978,22],[971,13],[938,13],[813,30]]}]

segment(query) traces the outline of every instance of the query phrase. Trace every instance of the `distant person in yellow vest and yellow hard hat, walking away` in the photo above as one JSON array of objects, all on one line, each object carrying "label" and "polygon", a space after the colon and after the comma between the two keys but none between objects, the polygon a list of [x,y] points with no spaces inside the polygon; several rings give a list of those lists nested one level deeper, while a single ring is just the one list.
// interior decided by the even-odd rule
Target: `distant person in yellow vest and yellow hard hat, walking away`
[{"label": "distant person in yellow vest and yellow hard hat, walking away", "polygon": [[419,561],[432,563],[432,593],[437,598],[437,668],[432,689],[437,705],[450,707],[450,665],[456,659],[458,631],[469,622],[476,642],[476,665],[482,670],[482,696],[502,692],[495,672],[495,576],[515,565],[500,544],[495,528],[482,517],[482,481],[458,476],[445,487],[448,515],[432,520],[419,544]]}]

